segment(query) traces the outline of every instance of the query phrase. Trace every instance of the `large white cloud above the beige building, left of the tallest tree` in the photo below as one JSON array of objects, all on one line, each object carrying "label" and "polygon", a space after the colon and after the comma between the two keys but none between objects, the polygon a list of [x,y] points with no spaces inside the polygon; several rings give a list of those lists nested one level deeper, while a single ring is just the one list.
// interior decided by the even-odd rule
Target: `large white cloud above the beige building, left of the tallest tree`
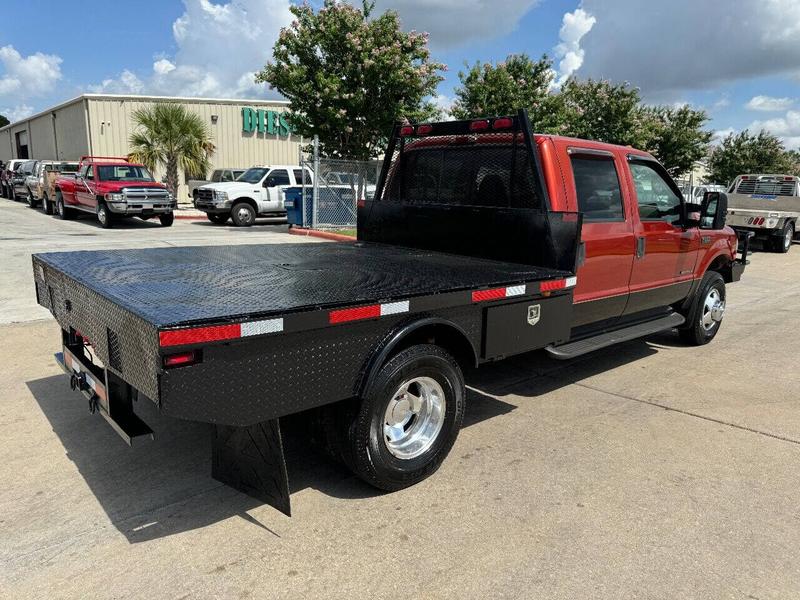
[{"label": "large white cloud above the beige building, left of the tallest tree", "polygon": [[276,96],[254,77],[272,56],[281,27],[292,21],[289,0],[184,0],[184,7],[172,24],[174,56],[159,57],[150,73],[126,69],[89,88],[168,96]]}]

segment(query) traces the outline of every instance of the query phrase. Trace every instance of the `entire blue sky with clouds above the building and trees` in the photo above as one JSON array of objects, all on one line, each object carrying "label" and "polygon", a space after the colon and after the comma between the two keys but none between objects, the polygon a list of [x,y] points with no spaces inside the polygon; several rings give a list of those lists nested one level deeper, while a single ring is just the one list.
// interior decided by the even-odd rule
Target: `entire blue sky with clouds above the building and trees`
[{"label": "entire blue sky with clouds above the building and trees", "polygon": [[[10,117],[87,91],[270,96],[252,73],[292,18],[289,0],[3,4],[5,14],[46,15],[0,29],[0,113]],[[430,32],[449,67],[444,105],[465,61],[546,52],[558,76],[630,81],[648,102],[706,109],[715,131],[764,127],[800,146],[795,0],[378,0],[384,8]]]}]

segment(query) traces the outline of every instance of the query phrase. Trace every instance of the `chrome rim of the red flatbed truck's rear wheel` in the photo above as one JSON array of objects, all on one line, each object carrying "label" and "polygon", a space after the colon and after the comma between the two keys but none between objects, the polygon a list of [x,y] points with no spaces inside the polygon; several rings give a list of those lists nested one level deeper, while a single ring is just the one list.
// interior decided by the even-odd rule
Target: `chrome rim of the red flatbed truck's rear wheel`
[{"label": "chrome rim of the red flatbed truck's rear wheel", "polygon": [[415,377],[394,393],[383,419],[383,439],[392,456],[410,460],[426,452],[444,425],[445,396],[438,381]]}]

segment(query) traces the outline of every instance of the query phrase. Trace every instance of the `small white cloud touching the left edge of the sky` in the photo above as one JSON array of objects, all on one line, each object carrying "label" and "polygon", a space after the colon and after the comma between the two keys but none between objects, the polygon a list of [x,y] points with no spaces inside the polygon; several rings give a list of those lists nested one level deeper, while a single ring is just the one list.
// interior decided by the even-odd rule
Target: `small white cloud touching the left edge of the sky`
[{"label": "small white cloud touching the left edge of the sky", "polygon": [[0,48],[0,96],[15,100],[43,96],[61,79],[61,57],[36,52],[22,56],[14,46]]}]

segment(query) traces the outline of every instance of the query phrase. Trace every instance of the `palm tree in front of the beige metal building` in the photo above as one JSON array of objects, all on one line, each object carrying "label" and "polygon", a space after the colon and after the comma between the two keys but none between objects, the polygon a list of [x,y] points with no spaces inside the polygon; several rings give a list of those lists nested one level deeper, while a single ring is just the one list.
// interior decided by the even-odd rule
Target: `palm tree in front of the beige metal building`
[{"label": "palm tree in front of the beige metal building", "polygon": [[128,159],[151,171],[166,167],[166,184],[178,196],[178,166],[192,175],[211,167],[214,153],[211,131],[203,119],[180,104],[159,102],[133,113],[136,130],[131,134]]}]

